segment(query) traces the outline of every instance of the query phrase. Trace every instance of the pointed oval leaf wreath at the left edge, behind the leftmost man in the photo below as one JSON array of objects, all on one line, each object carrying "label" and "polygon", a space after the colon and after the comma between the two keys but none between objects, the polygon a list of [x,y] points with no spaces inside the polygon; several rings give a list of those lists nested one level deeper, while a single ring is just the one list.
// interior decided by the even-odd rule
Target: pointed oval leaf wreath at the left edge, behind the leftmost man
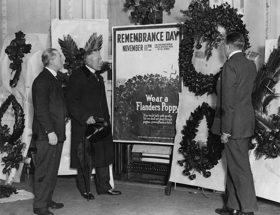
[{"label": "pointed oval leaf wreath at the left edge, behind the leftmost man", "polygon": [[[8,144],[14,146],[16,144],[16,141],[20,138],[20,136],[23,133],[24,114],[23,114],[22,107],[17,102],[15,96],[11,94],[10,96],[8,96],[8,98],[3,102],[3,104],[0,107],[0,124],[1,124],[1,119],[3,117],[3,114],[5,114],[10,104],[12,104],[12,108],[15,111],[15,124],[13,126],[13,133],[11,135],[10,134],[1,135],[3,136],[3,138],[1,138],[1,142],[3,141],[3,144],[8,142]],[[1,126],[1,128],[4,128],[5,131],[9,130],[6,125]]]}]

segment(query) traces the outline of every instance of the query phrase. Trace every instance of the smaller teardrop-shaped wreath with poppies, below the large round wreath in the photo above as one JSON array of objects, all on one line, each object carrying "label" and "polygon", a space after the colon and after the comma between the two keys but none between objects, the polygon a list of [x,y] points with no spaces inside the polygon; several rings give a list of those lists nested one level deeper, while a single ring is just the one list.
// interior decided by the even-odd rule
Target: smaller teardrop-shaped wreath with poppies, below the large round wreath
[{"label": "smaller teardrop-shaped wreath with poppies, below the large round wreath", "polygon": [[[198,131],[196,128],[199,126],[203,116],[206,118],[207,128],[209,129],[207,142],[193,140]],[[190,180],[196,177],[195,174],[191,175],[191,170],[195,170],[199,173],[202,172],[203,176],[206,178],[210,177],[211,172],[206,170],[210,170],[217,165],[218,160],[222,157],[221,153],[224,149],[224,144],[220,141],[218,135],[210,131],[214,116],[215,110],[207,103],[203,102],[193,113],[191,112],[189,119],[186,121],[186,125],[183,126],[182,134],[184,136],[183,140],[180,142],[181,147],[179,148],[179,153],[183,154],[184,159],[177,162],[181,166],[185,163],[183,175],[188,176]]]}]

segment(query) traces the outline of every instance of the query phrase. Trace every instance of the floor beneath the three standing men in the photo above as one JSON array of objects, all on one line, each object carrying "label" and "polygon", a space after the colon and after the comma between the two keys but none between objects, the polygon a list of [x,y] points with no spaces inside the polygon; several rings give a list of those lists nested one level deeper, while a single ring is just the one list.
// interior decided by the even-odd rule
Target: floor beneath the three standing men
[{"label": "floor beneath the three standing men", "polygon": [[[64,207],[52,210],[55,215],[76,214],[184,214],[184,215],[215,215],[215,209],[224,205],[224,195],[212,190],[198,189],[193,186],[176,184],[171,190],[170,196],[164,195],[165,186],[146,180],[145,183],[137,180],[115,180],[115,190],[122,195],[97,195],[95,181],[92,179],[91,187],[95,200],[87,202],[76,187],[75,176],[58,177],[57,186],[53,195],[53,201],[61,202]],[[150,182],[150,184],[148,184]],[[5,181],[0,180],[0,185]],[[25,177],[23,183],[13,183],[19,190],[33,193],[34,175]],[[279,192],[279,191],[276,191]],[[16,195],[16,194],[13,194]],[[12,195],[10,197],[12,199]],[[18,200],[14,202],[0,203],[0,214],[30,215],[33,214],[33,200]],[[255,215],[279,215],[280,204],[258,198],[259,211]]]}]

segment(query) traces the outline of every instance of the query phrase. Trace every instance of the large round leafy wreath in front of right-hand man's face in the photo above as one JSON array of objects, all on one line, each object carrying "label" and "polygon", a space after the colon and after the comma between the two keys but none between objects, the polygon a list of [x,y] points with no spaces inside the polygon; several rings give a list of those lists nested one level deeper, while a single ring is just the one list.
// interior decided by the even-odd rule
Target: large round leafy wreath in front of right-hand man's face
[{"label": "large round leafy wreath in front of right-hand man's face", "polygon": [[178,24],[179,33],[183,35],[183,40],[179,47],[179,68],[184,85],[188,87],[189,91],[195,93],[195,96],[216,93],[216,82],[219,73],[205,75],[197,72],[192,64],[195,41],[199,41],[196,45],[197,49],[202,47],[202,42],[206,42],[205,56],[206,60],[209,60],[213,48],[217,49],[223,40],[223,36],[218,31],[218,27],[222,26],[225,28],[226,33],[240,32],[245,38],[243,51],[247,50],[251,46],[248,37],[249,32],[241,20],[243,15],[237,14],[237,9],[230,8],[228,3],[210,8],[208,0],[192,1],[188,10],[180,11],[184,16],[190,18],[183,24]]}]

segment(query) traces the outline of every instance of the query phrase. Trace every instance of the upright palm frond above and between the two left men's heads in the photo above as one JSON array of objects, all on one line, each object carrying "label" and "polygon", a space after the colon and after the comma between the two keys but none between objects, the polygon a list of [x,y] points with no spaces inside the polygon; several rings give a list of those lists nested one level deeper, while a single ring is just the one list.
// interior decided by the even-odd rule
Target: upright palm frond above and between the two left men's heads
[{"label": "upright palm frond above and between the two left men's heads", "polygon": [[78,46],[73,38],[68,34],[67,37],[63,35],[63,40],[58,38],[61,51],[65,57],[73,59],[79,53]]}]

